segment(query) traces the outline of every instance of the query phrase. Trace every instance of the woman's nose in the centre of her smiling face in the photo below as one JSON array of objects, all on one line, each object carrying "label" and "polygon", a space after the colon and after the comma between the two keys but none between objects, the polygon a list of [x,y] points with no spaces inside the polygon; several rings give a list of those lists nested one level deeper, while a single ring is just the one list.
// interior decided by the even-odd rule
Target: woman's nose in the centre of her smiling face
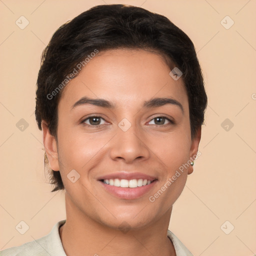
[{"label": "woman's nose in the centre of her smiling face", "polygon": [[131,124],[127,130],[121,125],[116,127],[116,135],[111,139],[110,145],[110,157],[113,160],[130,163],[135,159],[144,161],[149,155],[145,134],[139,127],[134,124]]}]

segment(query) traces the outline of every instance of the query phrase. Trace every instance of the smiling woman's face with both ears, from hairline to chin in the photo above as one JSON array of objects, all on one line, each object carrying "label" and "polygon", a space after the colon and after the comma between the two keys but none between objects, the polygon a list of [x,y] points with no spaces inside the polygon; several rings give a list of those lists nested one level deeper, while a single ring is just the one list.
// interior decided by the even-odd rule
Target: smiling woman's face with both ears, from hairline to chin
[{"label": "smiling woman's face with both ears, from hairline to chin", "polygon": [[114,49],[99,52],[66,85],[57,142],[43,133],[73,215],[139,228],[170,213],[192,172],[180,166],[196,155],[200,132],[191,140],[182,76],[169,72],[159,54]]}]

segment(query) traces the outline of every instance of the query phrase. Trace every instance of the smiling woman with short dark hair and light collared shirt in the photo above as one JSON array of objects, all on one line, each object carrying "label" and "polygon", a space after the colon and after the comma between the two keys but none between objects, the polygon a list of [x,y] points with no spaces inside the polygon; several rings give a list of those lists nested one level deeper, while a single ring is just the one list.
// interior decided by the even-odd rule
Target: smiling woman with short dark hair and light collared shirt
[{"label": "smiling woman with short dark hair and light collared shirt", "polygon": [[98,5],[60,26],[35,115],[66,219],[0,255],[192,255],[168,224],[206,104],[193,43],[166,17]]}]

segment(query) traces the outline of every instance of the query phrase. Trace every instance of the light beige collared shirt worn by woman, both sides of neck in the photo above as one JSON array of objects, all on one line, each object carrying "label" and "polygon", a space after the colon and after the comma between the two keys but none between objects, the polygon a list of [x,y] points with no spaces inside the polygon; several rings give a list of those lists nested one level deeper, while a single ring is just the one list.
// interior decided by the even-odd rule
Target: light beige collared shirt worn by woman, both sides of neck
[{"label": "light beige collared shirt worn by woman, both sides of neck", "polygon": [[[66,256],[59,236],[59,227],[65,221],[65,219],[58,221],[51,231],[41,238],[1,250],[0,256]],[[167,236],[173,243],[176,256],[193,256],[170,230],[167,231]]]}]

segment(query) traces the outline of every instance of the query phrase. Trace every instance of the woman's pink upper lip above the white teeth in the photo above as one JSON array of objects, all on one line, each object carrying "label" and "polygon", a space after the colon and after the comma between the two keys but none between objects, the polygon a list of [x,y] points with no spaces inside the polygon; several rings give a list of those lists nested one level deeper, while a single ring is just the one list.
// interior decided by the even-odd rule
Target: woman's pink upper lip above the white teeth
[{"label": "woman's pink upper lip above the white teeth", "polygon": [[114,172],[114,173],[109,173],[103,176],[98,177],[97,179],[114,179],[114,178],[118,178],[118,179],[147,179],[150,181],[153,181],[154,179],[156,179],[156,177],[147,175],[145,173],[141,173],[141,172],[124,172],[124,171],[119,171],[119,172]]}]

